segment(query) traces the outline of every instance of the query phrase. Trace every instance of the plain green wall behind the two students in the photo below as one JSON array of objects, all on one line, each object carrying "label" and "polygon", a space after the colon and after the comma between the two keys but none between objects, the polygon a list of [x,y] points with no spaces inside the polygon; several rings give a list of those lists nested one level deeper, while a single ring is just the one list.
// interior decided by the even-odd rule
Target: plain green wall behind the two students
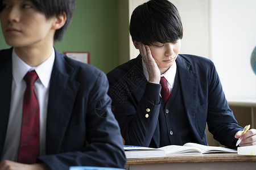
[{"label": "plain green wall behind the two students", "polygon": [[[118,0],[76,0],[71,25],[61,42],[60,52],[89,52],[90,64],[108,73],[118,65]],[[1,31],[2,32],[2,31]],[[8,46],[0,35],[0,49]]]}]

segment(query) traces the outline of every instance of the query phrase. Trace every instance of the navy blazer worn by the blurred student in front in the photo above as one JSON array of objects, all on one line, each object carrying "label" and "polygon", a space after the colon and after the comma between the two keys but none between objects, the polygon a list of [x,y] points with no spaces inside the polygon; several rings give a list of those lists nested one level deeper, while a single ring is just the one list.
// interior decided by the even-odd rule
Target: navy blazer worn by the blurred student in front
[{"label": "navy blazer worn by the blurred student in front", "polygon": [[[0,158],[10,112],[11,53],[12,48],[0,50]],[[107,95],[106,75],[55,50],[49,86],[46,156],[37,162],[51,169],[71,165],[123,168],[126,158]]]}]

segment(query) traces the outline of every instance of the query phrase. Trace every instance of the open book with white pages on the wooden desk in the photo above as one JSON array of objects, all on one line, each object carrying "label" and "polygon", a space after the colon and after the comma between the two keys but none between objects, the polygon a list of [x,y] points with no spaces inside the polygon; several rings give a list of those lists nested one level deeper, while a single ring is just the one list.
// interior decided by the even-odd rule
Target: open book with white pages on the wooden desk
[{"label": "open book with white pages on the wooden desk", "polygon": [[207,154],[214,152],[233,152],[233,150],[220,146],[205,146],[197,143],[185,143],[183,146],[168,145],[160,148],[125,146],[126,158],[155,158],[174,154]]}]

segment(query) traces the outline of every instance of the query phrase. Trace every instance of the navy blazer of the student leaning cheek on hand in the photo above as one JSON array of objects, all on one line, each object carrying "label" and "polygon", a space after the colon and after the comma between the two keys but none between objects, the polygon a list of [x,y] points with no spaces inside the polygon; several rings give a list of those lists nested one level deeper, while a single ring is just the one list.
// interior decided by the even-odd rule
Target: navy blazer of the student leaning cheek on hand
[{"label": "navy blazer of the student leaning cheek on hand", "polygon": [[[208,145],[205,135],[208,124],[210,133],[217,141],[227,147],[235,147],[234,135],[242,128],[229,108],[213,62],[199,56],[179,54],[176,65],[185,114],[197,143]],[[150,99],[155,91],[159,96],[159,90],[144,77],[141,55],[116,67],[107,76],[113,113],[126,145],[151,146],[151,141],[154,141],[159,147],[159,122],[166,120],[159,121],[164,118],[160,116],[164,115],[160,113],[164,111],[160,109],[161,102]]]}]

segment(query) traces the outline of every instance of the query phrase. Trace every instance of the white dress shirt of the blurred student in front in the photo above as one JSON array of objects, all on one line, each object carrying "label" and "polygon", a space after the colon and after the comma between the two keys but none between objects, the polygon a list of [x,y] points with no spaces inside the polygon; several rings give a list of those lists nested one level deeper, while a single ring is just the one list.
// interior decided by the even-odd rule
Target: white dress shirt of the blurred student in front
[{"label": "white dress shirt of the blurred student in front", "polygon": [[35,70],[38,79],[35,82],[34,90],[38,98],[40,109],[40,156],[46,155],[46,118],[49,96],[49,80],[51,78],[55,51],[52,48],[51,56],[37,67],[27,65],[20,59],[13,49],[12,67],[13,84],[11,88],[11,108],[5,146],[3,147],[2,160],[18,160],[20,142],[20,131],[22,126],[23,97],[26,90],[26,82],[23,80],[28,71]]}]

